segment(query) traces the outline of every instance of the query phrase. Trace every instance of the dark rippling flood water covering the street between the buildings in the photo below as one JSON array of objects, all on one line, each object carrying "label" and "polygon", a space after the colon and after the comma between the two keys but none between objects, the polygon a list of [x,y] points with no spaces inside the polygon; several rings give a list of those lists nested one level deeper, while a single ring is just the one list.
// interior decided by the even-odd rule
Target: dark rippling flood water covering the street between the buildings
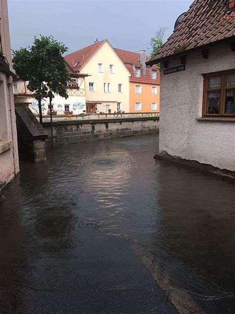
[{"label": "dark rippling flood water covering the street between the buildings", "polygon": [[235,183],[158,135],[22,163],[0,204],[0,313],[235,313]]}]

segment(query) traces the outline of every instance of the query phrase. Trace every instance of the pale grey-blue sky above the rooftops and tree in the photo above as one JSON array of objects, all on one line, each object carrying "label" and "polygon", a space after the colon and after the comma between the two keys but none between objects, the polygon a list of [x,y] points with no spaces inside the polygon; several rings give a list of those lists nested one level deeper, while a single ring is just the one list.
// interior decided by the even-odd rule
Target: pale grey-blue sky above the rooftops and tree
[{"label": "pale grey-blue sky above the rooftops and tree", "polygon": [[8,0],[11,48],[53,35],[68,52],[108,38],[113,47],[138,52],[162,26],[171,35],[176,18],[193,0]]}]

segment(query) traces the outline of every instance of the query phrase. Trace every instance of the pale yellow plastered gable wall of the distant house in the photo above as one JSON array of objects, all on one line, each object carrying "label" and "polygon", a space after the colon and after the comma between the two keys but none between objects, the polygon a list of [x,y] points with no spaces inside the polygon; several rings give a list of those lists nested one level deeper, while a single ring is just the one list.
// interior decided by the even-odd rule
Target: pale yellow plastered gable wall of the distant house
[{"label": "pale yellow plastered gable wall of the distant house", "polygon": [[[103,64],[103,73],[99,73],[98,64]],[[114,65],[114,73],[110,73],[110,65]],[[121,102],[121,110],[129,112],[129,72],[121,62],[114,49],[105,42],[92,58],[81,68],[81,73],[90,76],[85,80],[86,101],[98,100],[99,111],[106,112],[106,105],[111,111],[117,111],[117,102]],[[89,90],[89,82],[95,83],[95,91]],[[110,83],[110,92],[104,92],[104,83]],[[122,84],[122,92],[118,92],[118,84]],[[105,101],[101,101],[105,100]],[[113,100],[111,102],[111,100]]]}]

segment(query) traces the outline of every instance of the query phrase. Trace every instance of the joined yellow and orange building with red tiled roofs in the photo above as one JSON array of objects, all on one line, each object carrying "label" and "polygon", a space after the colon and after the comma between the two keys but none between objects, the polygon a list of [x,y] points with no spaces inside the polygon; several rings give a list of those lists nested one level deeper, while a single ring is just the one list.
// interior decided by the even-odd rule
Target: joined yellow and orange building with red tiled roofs
[{"label": "joined yellow and orange building with red tiled roofs", "polygon": [[[93,113],[159,112],[160,71],[146,66],[148,60],[145,50],[113,48],[107,39],[65,56],[74,72],[89,74],[86,112]],[[141,93],[137,94],[133,83],[142,87]]]}]

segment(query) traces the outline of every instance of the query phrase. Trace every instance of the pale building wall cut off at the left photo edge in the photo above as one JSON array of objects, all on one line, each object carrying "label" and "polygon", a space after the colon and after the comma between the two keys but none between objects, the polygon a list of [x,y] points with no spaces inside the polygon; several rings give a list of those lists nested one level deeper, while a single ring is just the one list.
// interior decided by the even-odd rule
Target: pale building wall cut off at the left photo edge
[{"label": "pale building wall cut off at the left photo edge", "polygon": [[19,172],[7,0],[0,0],[0,188]]}]

